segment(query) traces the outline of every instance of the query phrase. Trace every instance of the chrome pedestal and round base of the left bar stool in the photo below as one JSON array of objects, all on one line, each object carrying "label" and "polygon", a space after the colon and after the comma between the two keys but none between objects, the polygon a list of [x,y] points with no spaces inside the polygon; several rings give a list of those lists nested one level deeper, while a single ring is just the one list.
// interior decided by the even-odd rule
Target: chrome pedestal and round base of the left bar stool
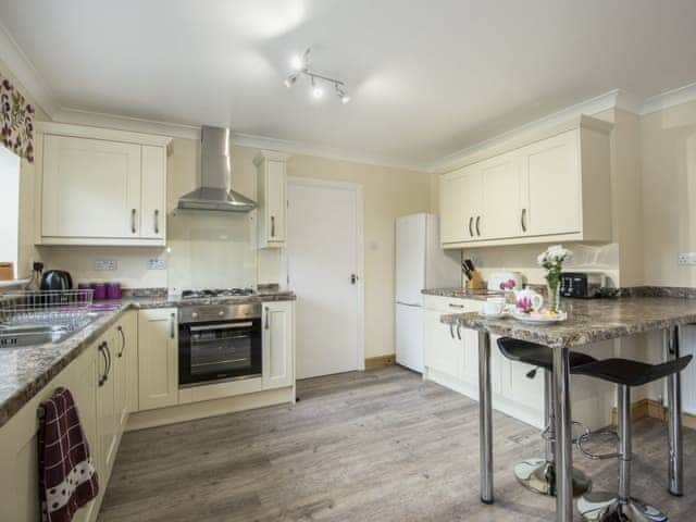
[{"label": "chrome pedestal and round base of the left bar stool", "polygon": [[[527,489],[540,495],[556,496],[556,405],[554,403],[554,374],[544,370],[544,419],[546,436],[544,458],[529,459],[514,464],[514,477]],[[573,495],[589,490],[592,482],[582,471],[573,469]]]}]

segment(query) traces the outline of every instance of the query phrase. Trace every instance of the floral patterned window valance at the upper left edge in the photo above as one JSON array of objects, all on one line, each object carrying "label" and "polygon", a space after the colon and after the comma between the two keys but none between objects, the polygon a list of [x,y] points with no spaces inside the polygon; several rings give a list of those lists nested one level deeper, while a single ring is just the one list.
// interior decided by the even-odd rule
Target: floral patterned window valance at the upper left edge
[{"label": "floral patterned window valance at the upper left edge", "polygon": [[15,154],[34,162],[34,108],[0,75],[2,144]]}]

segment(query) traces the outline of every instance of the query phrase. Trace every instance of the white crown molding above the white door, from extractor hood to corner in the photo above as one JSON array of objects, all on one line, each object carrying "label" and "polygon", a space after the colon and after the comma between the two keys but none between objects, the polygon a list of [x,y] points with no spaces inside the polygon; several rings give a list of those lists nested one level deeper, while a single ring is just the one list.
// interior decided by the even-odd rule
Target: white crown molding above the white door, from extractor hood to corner
[{"label": "white crown molding above the white door, from extractor hood to corner", "polygon": [[380,158],[352,153],[333,147],[316,146],[301,141],[287,139],[269,138],[253,134],[234,133],[232,140],[239,147],[250,147],[256,149],[274,150],[294,156],[313,156],[315,158],[326,158],[330,160],[349,161],[366,165],[387,166],[390,169],[402,169],[407,171],[426,172],[423,164],[402,163],[391,158]]}]

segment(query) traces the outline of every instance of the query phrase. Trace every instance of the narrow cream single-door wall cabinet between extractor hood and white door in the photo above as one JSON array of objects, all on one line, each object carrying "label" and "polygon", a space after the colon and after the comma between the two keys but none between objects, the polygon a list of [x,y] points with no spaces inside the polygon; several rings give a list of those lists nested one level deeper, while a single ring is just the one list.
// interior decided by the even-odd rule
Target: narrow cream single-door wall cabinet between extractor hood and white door
[{"label": "narrow cream single-door wall cabinet between extractor hood and white door", "polygon": [[285,246],[287,215],[287,160],[289,156],[262,150],[257,167],[257,227],[259,248]]}]

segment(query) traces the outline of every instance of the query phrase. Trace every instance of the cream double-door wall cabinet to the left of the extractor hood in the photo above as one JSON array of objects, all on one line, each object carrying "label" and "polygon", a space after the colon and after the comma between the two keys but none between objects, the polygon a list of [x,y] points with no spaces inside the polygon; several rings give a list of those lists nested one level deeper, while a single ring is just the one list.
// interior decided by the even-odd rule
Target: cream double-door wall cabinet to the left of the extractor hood
[{"label": "cream double-door wall cabinet to the left of the extractor hood", "polygon": [[164,246],[169,138],[42,123],[39,245]]}]

